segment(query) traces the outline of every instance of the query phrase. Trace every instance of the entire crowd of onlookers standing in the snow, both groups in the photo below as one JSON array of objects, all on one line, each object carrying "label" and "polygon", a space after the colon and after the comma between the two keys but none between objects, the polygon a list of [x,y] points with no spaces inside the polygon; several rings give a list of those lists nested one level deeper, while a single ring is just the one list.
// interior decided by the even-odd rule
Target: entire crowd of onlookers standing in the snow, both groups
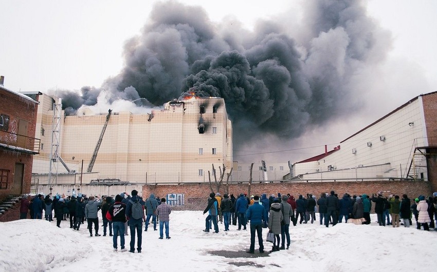
[{"label": "entire crowd of onlookers standing in the snow, both groups", "polygon": [[[229,226],[238,226],[236,230],[246,230],[247,224],[250,229],[250,247],[247,251],[254,253],[255,236],[258,237],[259,251],[264,252],[262,229],[274,236],[272,251],[288,249],[290,245],[289,226],[293,224],[313,224],[316,222],[316,212],[319,213],[320,225],[329,227],[338,223],[370,224],[370,213],[374,206],[379,226],[392,225],[393,227],[410,227],[414,216],[416,228],[424,230],[437,230],[434,221],[437,222],[437,192],[432,196],[418,196],[412,201],[406,194],[402,198],[398,195],[384,196],[382,192],[359,196],[350,196],[344,193],[340,198],[337,193],[331,191],[321,193],[319,198],[311,193],[306,197],[299,195],[295,199],[293,195],[270,195],[266,193],[260,196],[247,196],[240,193],[238,198],[233,194],[211,192],[204,214],[205,229],[214,233],[219,232],[219,222],[224,223],[224,231],[229,231]],[[107,231],[113,237],[114,250],[118,250],[118,237],[120,237],[121,251],[125,248],[124,237],[130,235],[130,252],[141,252],[142,224],[144,231],[148,231],[150,219],[153,229],[157,230],[159,222],[159,239],[169,236],[169,215],[171,206],[166,204],[166,199],[155,197],[154,193],[145,201],[138,196],[138,191],[132,190],[131,195],[122,192],[113,199],[104,196],[96,199],[95,196],[43,196],[23,197],[20,206],[20,219],[26,219],[28,214],[31,219],[44,219],[53,221],[56,218],[57,226],[61,227],[62,220],[69,220],[70,228],[79,230],[86,219],[89,235],[99,234],[99,211],[103,223],[103,236]],[[53,215],[54,213],[54,215]],[[130,230],[130,232],[128,231]],[[165,232],[164,232],[165,229]],[[135,248],[136,246],[136,248]]]}]

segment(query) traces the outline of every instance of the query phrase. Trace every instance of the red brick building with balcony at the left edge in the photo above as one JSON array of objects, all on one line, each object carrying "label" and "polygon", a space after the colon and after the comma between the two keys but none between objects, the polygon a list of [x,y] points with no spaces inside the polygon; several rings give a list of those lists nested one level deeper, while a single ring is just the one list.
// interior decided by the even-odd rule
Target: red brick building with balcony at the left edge
[{"label": "red brick building with balcony at the left edge", "polygon": [[0,77],[0,201],[30,192],[32,157],[40,150],[35,139],[35,99],[8,90]]}]

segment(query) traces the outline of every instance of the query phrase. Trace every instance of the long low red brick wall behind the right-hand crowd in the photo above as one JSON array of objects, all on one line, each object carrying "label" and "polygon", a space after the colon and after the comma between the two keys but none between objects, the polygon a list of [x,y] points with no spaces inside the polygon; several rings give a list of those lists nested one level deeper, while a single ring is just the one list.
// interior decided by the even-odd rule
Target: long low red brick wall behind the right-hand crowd
[{"label": "long low red brick wall behind the right-hand crowd", "polygon": [[[213,186],[215,188],[215,186]],[[225,185],[222,185],[220,193],[225,193]],[[425,181],[374,181],[374,182],[304,182],[304,183],[254,183],[251,185],[250,194],[259,195],[267,193],[267,195],[277,195],[290,193],[297,198],[299,195],[306,196],[306,193],[312,193],[315,196],[320,196],[320,193],[334,190],[339,196],[347,192],[352,195],[362,195],[383,191],[383,194],[388,196],[396,194],[402,196],[406,193],[410,198],[416,198],[419,195],[432,195],[431,184]],[[186,202],[190,199],[207,199],[211,192],[208,183],[205,184],[184,184],[184,185],[143,185],[143,198],[154,193],[155,196],[162,198],[168,193],[184,193]],[[248,184],[232,184],[229,185],[229,193],[233,193],[238,197],[240,193],[248,192]],[[202,209],[203,207],[199,207]]]}]

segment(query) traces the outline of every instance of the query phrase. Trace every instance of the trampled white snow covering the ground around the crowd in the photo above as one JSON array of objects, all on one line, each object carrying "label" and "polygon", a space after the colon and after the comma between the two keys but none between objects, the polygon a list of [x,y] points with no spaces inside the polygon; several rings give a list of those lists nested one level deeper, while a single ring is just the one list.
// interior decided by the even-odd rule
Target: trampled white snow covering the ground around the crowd
[{"label": "trampled white snow covering the ground around the crowd", "polygon": [[[101,216],[101,215],[100,215]],[[318,215],[317,215],[318,216]],[[371,225],[337,224],[326,228],[318,221],[290,227],[292,243],[288,250],[260,254],[246,253],[250,231],[203,232],[202,211],[173,211],[170,215],[171,239],[159,240],[159,230],[142,231],[142,252],[114,252],[112,237],[89,237],[85,225],[79,231],[69,228],[69,221],[17,220],[0,223],[0,271],[265,271],[267,268],[304,268],[317,271],[372,271],[399,269],[435,269],[437,231],[415,228],[381,227],[372,215]],[[103,234],[101,218],[99,233]],[[159,229],[159,228],[158,228]],[[93,230],[94,233],[94,230]],[[108,235],[109,233],[107,233]],[[131,236],[126,236],[129,250]],[[216,252],[212,252],[216,251]],[[213,254],[211,254],[212,252]],[[221,256],[222,255],[222,256]],[[225,257],[226,256],[226,257]],[[232,257],[232,258],[229,258]]]}]

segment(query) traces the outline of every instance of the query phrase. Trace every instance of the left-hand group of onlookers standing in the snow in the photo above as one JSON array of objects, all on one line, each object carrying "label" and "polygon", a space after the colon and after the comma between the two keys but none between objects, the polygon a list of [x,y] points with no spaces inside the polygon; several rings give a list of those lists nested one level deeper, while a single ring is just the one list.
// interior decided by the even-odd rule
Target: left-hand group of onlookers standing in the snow
[{"label": "left-hand group of onlookers standing in the snow", "polygon": [[[145,223],[144,231],[148,230],[150,219],[152,219],[153,229],[157,230],[156,225],[159,221],[159,239],[163,239],[164,228],[166,239],[169,236],[169,215],[171,206],[166,204],[166,199],[159,199],[151,193],[145,201],[138,196],[137,190],[132,190],[131,195],[122,192],[113,199],[104,196],[98,199],[96,196],[26,196],[21,199],[20,219],[42,219],[44,212],[45,220],[53,221],[56,218],[57,226],[61,227],[62,220],[70,221],[70,228],[79,230],[81,224],[86,219],[89,236],[101,236],[99,234],[99,212],[103,223],[103,236],[107,230],[109,236],[113,237],[114,251],[118,250],[118,237],[120,237],[120,250],[127,251],[125,248],[124,237],[130,235],[130,252],[135,249],[141,252],[142,243],[142,224]],[[54,213],[54,215],[53,215]],[[130,232],[128,233],[128,229]],[[94,230],[94,234],[93,234]],[[136,246],[136,247],[135,247]]]}]

